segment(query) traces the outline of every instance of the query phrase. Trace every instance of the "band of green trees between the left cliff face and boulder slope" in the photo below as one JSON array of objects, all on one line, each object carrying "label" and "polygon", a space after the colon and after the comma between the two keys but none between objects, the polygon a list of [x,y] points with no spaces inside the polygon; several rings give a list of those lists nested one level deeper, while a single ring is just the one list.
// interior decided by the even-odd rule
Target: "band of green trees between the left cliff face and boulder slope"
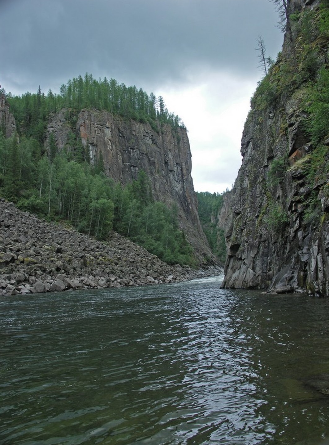
[{"label": "band of green trees between the left cliff face and boulder slope", "polygon": [[0,195],[97,239],[114,230],[167,263],[194,264],[193,249],[178,228],[177,207],[153,199],[143,170],[123,187],[101,165],[91,166],[74,152],[48,147],[43,153],[37,139],[17,134],[6,139],[0,131]]}]

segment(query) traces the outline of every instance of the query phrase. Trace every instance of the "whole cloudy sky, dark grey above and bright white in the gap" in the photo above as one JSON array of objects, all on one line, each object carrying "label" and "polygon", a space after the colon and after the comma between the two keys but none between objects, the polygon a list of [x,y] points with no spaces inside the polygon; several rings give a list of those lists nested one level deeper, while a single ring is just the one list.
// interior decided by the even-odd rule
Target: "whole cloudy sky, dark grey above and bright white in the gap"
[{"label": "whole cloudy sky, dark grey above and bright white in the gap", "polygon": [[269,0],[0,0],[0,84],[13,94],[72,77],[115,78],[163,96],[189,131],[196,191],[231,188],[257,47],[283,36]]}]

